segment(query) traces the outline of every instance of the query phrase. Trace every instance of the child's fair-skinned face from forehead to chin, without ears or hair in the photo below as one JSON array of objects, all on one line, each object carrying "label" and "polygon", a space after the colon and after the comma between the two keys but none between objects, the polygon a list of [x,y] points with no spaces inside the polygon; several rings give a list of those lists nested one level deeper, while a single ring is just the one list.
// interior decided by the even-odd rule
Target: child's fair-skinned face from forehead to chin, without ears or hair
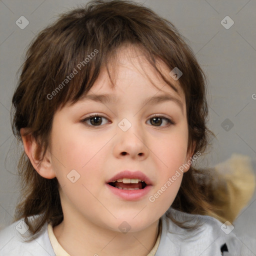
[{"label": "child's fair-skinned face from forehead to chin, without ears or hair", "polygon": [[191,156],[186,105],[178,80],[169,76],[175,91],[143,55],[118,52],[114,87],[102,70],[84,98],[55,113],[50,162],[66,219],[139,231],[164,214],[179,189],[182,173],[175,172]]}]

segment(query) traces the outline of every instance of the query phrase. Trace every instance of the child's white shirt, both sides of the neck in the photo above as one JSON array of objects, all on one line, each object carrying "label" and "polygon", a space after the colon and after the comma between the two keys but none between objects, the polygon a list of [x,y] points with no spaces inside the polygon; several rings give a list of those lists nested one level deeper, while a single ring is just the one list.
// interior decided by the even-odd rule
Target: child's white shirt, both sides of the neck
[{"label": "child's white shirt, both sides of the neck", "polygon": [[[174,224],[167,217],[169,213],[178,221],[186,221],[186,224],[198,222],[200,226],[196,230],[187,231]],[[0,256],[56,255],[49,239],[47,223],[38,237],[30,242],[22,241],[18,231],[20,226],[20,221],[17,221],[0,230]],[[161,217],[160,241],[155,256],[256,256],[256,239],[246,237],[246,240],[242,240],[235,235],[234,230],[230,230],[230,227],[223,226],[213,217],[170,208]],[[66,256],[64,250],[61,253],[57,256]]]}]

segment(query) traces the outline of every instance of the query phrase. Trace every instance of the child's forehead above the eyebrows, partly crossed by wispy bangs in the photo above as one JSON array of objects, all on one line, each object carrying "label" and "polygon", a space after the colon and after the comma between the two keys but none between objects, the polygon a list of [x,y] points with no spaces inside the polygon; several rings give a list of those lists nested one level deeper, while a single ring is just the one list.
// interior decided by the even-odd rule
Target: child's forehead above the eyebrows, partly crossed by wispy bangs
[{"label": "child's forehead above the eyebrows, partly crossed by wispy bangs", "polygon": [[136,83],[135,88],[140,90],[140,93],[141,90],[145,94],[150,91],[153,93],[162,91],[184,98],[181,86],[169,75],[170,70],[166,64],[157,59],[156,67],[170,84],[167,84],[149,63],[146,53],[141,48],[135,45],[122,46],[108,58],[107,67],[101,68],[91,91],[107,93],[111,90],[114,93],[121,90],[125,93],[129,85]]}]

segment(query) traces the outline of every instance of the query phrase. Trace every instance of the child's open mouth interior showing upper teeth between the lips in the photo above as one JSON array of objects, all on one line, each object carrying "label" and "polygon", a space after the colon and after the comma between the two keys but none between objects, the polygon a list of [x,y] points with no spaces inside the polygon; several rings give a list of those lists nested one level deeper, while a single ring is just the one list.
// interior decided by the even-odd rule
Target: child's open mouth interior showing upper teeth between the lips
[{"label": "child's open mouth interior showing upper teeth between the lips", "polygon": [[144,180],[140,180],[138,178],[119,178],[117,180],[108,182],[108,184],[113,187],[124,190],[143,189],[147,185]]}]

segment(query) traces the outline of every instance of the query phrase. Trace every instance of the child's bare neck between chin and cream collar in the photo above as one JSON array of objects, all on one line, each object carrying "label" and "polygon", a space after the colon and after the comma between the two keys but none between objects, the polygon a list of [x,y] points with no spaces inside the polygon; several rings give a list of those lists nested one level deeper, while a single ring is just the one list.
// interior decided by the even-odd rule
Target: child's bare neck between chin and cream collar
[{"label": "child's bare neck between chin and cream collar", "polygon": [[138,232],[117,232],[86,221],[63,221],[53,233],[63,249],[72,256],[146,256],[155,244],[158,220]]}]

